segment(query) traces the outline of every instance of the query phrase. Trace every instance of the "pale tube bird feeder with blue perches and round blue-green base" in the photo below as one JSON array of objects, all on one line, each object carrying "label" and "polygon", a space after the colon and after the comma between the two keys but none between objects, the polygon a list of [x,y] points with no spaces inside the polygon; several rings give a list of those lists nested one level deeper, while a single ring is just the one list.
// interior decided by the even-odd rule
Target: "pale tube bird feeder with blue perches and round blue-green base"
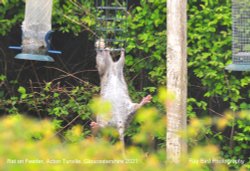
[{"label": "pale tube bird feeder with blue perches and round blue-green base", "polygon": [[16,59],[49,61],[49,53],[61,54],[50,49],[52,0],[26,0],[25,19],[22,23],[22,46],[10,46],[21,50]]}]

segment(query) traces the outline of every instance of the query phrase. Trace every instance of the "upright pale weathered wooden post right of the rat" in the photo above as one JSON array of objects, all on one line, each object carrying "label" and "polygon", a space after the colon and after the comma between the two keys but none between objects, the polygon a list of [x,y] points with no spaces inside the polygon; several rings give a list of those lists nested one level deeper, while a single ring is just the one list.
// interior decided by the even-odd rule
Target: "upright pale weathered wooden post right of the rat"
[{"label": "upright pale weathered wooden post right of the rat", "polygon": [[179,132],[186,130],[187,0],[167,0],[167,89],[175,99],[167,104],[167,159],[178,163],[187,153]]}]

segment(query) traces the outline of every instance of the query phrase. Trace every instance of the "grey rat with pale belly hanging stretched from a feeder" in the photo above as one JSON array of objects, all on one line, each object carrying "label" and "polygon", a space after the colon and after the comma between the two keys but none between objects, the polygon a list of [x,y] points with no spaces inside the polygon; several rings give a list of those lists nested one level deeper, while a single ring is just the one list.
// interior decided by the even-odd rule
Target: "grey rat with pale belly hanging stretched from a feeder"
[{"label": "grey rat with pale belly hanging stretched from a feeder", "polygon": [[95,130],[107,126],[115,127],[118,130],[120,141],[123,147],[125,147],[125,130],[128,128],[136,111],[149,103],[152,97],[147,95],[140,103],[132,102],[123,74],[125,63],[124,49],[121,49],[120,58],[114,61],[110,55],[111,49],[105,48],[103,39],[96,42],[96,47],[98,47],[96,49],[96,64],[101,80],[100,96],[111,104],[111,117],[107,120],[101,115],[97,115],[97,121],[91,122],[90,126]]}]

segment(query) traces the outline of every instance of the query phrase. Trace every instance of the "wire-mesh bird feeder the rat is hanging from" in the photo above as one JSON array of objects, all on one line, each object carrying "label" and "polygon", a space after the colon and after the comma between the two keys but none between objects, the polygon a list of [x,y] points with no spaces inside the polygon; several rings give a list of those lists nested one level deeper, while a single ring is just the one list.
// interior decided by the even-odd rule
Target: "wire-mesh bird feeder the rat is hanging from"
[{"label": "wire-mesh bird feeder the rat is hanging from", "polygon": [[97,38],[104,40],[110,51],[120,51],[125,46],[128,0],[96,0]]}]

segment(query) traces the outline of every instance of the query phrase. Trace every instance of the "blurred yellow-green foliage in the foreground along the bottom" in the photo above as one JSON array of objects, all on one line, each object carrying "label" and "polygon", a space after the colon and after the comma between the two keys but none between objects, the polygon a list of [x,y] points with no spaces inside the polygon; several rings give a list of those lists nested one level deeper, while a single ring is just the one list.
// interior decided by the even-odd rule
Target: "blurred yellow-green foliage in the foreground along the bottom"
[{"label": "blurred yellow-green foliage in the foreground along the bottom", "polygon": [[[150,115],[150,119],[145,115]],[[228,116],[225,115],[224,119],[228,119]],[[250,121],[247,112],[241,112],[238,116],[242,120]],[[150,152],[141,150],[141,146],[144,146],[144,150],[153,146],[152,136],[164,133],[165,119],[159,118],[157,110],[152,108],[140,111],[136,120],[142,123],[141,131],[134,136],[133,145],[124,153],[119,141],[110,144],[109,137],[114,135],[110,129],[102,131],[100,138],[87,136],[83,139],[82,129],[85,126],[76,125],[65,134],[65,140],[60,140],[49,120],[38,121],[21,115],[9,115],[0,120],[0,169],[226,171],[229,170],[227,165],[239,162],[238,158],[221,158],[217,146],[204,144],[194,146],[188,156],[183,155],[180,164],[166,163],[164,148]],[[208,125],[220,125],[220,122],[193,119],[188,126],[188,132],[183,132],[183,136],[197,139],[197,130]],[[234,153],[239,151],[240,148],[234,149]],[[118,160],[122,163],[103,163]],[[243,164],[238,170],[245,171],[249,168],[249,161],[243,161]]]}]

